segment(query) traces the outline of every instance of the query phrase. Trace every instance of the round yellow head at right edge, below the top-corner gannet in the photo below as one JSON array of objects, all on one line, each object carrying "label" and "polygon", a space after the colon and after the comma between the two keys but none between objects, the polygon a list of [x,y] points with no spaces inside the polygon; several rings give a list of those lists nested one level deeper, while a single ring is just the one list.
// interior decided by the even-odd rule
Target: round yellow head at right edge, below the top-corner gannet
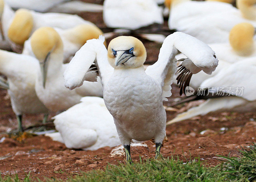
[{"label": "round yellow head at right edge, below the top-corner gannet", "polygon": [[253,51],[254,27],[250,23],[239,23],[229,33],[231,47],[242,55],[251,54]]}]

